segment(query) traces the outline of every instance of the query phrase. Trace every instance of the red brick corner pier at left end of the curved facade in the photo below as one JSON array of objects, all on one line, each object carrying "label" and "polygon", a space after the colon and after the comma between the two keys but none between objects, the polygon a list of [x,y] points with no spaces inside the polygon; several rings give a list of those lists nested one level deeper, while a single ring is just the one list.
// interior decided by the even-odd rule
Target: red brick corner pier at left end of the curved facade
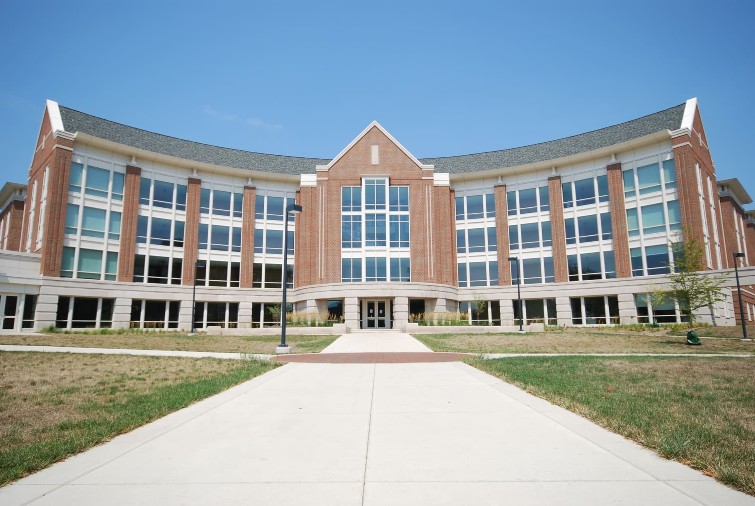
[{"label": "red brick corner pier at left end of the curved facade", "polygon": [[[60,262],[63,260],[63,238],[66,226],[66,209],[68,207],[68,182],[71,176],[71,154],[73,141],[58,137],[53,149],[53,155],[48,175],[47,206],[45,209],[45,231],[42,237],[42,262],[40,265],[40,274],[43,276],[58,277],[60,276]],[[39,183],[37,185],[37,204],[35,223],[29,224],[37,226],[39,213],[42,209],[39,200],[42,198],[42,170],[39,174]],[[27,190],[27,195],[29,192]],[[32,228],[32,249],[34,247],[36,229]],[[23,238],[22,238],[23,241]]]}]

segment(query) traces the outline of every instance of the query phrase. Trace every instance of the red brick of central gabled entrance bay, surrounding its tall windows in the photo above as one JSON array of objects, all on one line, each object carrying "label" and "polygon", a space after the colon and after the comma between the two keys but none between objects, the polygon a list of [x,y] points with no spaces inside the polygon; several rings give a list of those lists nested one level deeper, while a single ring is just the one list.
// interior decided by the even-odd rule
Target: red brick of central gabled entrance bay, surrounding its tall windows
[{"label": "red brick of central gabled entrance bay, surrounding its tall windows", "polygon": [[[371,164],[371,146],[379,146],[379,164]],[[329,170],[318,172],[316,187],[301,189],[297,286],[341,281],[341,187],[362,186],[362,176],[370,175],[388,176],[390,186],[408,186],[411,281],[454,284],[455,253],[439,242],[451,244],[455,235],[449,189],[435,187],[432,170],[422,170],[372,127]]]}]

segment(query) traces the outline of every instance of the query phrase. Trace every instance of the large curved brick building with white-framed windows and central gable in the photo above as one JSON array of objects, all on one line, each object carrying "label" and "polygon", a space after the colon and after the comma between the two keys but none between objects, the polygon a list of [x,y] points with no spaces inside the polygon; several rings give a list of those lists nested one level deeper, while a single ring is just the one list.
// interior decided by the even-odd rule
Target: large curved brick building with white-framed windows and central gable
[{"label": "large curved brick building with white-framed windows and central gable", "polygon": [[[283,282],[292,310],[353,329],[415,315],[513,324],[519,282],[529,323],[670,323],[679,308],[646,294],[683,228],[704,239],[711,271],[732,268],[735,251],[745,270],[755,262],[751,200],[736,179],[716,182],[696,99],[547,143],[422,160],[377,123],[331,160],[296,158],[48,100],[28,184],[7,183],[0,200],[6,330],[189,329],[193,312],[196,328],[274,326]],[[293,203],[303,212],[285,224]],[[735,323],[725,295],[704,320]],[[751,319],[755,290],[742,296]]]}]

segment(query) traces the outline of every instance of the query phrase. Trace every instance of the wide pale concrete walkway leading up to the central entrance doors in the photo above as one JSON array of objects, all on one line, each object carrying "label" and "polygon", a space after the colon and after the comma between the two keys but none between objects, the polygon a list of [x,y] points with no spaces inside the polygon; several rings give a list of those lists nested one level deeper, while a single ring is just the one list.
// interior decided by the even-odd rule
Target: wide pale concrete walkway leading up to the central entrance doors
[{"label": "wide pale concrete walkway leading up to the central entrance doors", "polygon": [[[332,350],[420,351],[353,334]],[[391,342],[393,349],[382,349]],[[0,489],[0,504],[753,505],[461,362],[288,363]]]}]

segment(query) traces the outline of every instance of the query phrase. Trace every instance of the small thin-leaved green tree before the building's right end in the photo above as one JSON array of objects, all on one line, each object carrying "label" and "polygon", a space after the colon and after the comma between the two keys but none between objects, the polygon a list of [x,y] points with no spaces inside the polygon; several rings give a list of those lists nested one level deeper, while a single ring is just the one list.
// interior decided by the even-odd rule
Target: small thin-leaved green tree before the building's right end
[{"label": "small thin-leaved green tree before the building's right end", "polygon": [[698,240],[689,228],[684,228],[682,237],[669,241],[673,262],[668,264],[667,284],[663,288],[651,287],[653,305],[662,305],[667,300],[676,301],[682,314],[689,317],[689,328],[695,326],[695,311],[711,307],[725,300],[721,291],[727,278],[723,274],[705,274],[705,244]]}]

